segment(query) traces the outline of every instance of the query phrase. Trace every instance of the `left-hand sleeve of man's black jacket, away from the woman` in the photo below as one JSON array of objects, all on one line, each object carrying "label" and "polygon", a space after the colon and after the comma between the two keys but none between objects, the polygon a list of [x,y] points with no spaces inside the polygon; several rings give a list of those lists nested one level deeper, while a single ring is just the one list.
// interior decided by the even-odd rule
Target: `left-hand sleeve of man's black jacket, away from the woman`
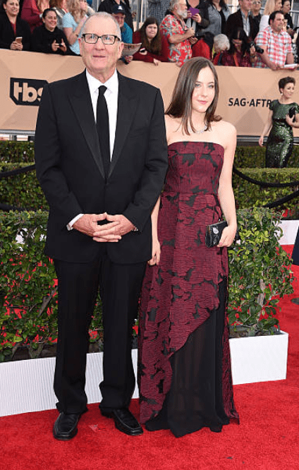
[{"label": "left-hand sleeve of man's black jacket, away from the woman", "polygon": [[61,151],[51,88],[45,85],[35,131],[35,167],[50,211],[56,213],[56,221],[63,228],[84,211],[68,188],[61,169]]}]

